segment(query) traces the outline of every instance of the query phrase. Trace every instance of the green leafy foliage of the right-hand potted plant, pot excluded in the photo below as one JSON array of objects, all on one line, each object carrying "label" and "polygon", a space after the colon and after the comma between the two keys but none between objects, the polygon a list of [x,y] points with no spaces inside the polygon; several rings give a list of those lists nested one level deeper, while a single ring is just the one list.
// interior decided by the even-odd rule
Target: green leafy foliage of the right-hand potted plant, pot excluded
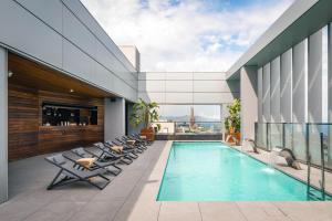
[{"label": "green leafy foliage of the right-hand potted plant, pot excluded", "polygon": [[236,133],[241,129],[241,102],[240,99],[235,99],[232,104],[227,105],[229,116],[225,119],[225,128],[229,131],[230,127],[235,129]]}]

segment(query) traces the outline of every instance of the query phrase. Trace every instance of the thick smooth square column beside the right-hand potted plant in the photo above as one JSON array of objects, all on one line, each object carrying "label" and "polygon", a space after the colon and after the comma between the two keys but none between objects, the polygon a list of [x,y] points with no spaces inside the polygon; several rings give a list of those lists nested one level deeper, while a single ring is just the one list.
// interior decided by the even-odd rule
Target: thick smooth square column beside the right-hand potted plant
[{"label": "thick smooth square column beside the right-hand potted plant", "polygon": [[257,120],[257,66],[241,69],[241,134],[243,138],[255,139]]}]

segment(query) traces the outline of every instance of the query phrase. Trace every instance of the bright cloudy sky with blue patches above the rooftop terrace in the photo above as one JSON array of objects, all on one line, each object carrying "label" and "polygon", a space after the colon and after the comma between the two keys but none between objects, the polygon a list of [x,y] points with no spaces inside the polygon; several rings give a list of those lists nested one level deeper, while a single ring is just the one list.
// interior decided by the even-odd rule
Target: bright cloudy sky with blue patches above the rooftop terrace
[{"label": "bright cloudy sky with blue patches above the rooftop terrace", "polygon": [[227,71],[293,0],[81,0],[142,71]]}]

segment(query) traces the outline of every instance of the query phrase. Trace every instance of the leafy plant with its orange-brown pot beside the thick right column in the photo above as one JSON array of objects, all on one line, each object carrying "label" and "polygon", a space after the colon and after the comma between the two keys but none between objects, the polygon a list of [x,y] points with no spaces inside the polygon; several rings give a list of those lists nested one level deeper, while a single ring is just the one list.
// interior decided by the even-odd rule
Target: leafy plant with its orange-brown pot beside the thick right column
[{"label": "leafy plant with its orange-brown pot beside the thick right column", "polygon": [[226,141],[236,143],[237,145],[241,139],[241,102],[240,99],[235,99],[230,105],[227,106],[229,116],[225,119],[225,128],[227,130],[225,137]]}]

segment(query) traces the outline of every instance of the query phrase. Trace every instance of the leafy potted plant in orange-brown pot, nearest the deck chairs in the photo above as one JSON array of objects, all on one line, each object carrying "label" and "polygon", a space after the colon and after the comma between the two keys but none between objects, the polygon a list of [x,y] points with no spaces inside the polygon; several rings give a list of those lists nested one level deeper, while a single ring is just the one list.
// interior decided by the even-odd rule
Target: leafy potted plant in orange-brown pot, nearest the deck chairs
[{"label": "leafy potted plant in orange-brown pot, nearest the deck chairs", "polygon": [[155,139],[155,130],[152,127],[152,123],[158,120],[158,104],[155,102],[147,103],[142,98],[138,98],[137,103],[134,104],[133,110],[129,117],[131,124],[135,127],[143,124],[141,135],[146,136],[148,140]]}]

